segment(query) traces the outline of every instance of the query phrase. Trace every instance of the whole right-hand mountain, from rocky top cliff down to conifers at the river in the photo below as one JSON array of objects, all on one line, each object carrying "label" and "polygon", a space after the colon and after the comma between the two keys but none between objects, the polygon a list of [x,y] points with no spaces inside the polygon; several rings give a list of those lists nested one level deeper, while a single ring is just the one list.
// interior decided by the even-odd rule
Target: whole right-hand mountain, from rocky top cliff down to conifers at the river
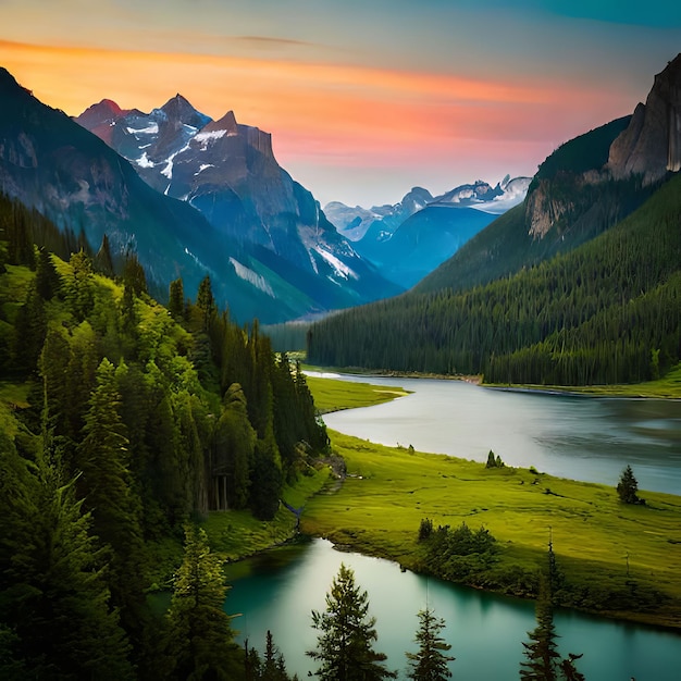
[{"label": "whole right-hand mountain, from rocky top cliff down to conifers at the river", "polygon": [[523,205],[418,286],[313,324],[309,361],[560,385],[678,364],[679,92],[681,55],[645,109],[559,147]]}]

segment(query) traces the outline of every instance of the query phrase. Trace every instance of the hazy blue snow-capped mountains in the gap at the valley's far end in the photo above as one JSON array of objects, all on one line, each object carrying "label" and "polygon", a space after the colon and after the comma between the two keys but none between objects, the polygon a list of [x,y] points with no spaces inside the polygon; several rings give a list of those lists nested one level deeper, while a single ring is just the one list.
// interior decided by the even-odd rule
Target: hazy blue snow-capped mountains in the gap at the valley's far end
[{"label": "hazy blue snow-capped mountains in the gap at the valley's far end", "polygon": [[332,202],[324,208],[355,250],[391,281],[407,287],[450,258],[497,214],[522,202],[530,177],[506,176],[458,186],[438,197],[413,187],[395,205],[371,209]]}]

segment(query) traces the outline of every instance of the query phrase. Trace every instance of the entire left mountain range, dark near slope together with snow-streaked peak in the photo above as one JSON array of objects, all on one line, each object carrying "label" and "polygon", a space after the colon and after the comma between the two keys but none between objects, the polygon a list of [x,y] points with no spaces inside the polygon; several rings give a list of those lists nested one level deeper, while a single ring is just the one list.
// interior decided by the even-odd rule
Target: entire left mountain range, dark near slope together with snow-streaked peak
[{"label": "entire left mountain range, dark near slope together with snow-streaked peak", "polygon": [[0,190],[94,250],[107,234],[114,261],[135,252],[161,299],[178,276],[191,297],[210,275],[235,319],[278,322],[403,290],[233,113],[211,121],[181,96],[149,114],[103,100],[76,123],[7,70],[0,96]]}]

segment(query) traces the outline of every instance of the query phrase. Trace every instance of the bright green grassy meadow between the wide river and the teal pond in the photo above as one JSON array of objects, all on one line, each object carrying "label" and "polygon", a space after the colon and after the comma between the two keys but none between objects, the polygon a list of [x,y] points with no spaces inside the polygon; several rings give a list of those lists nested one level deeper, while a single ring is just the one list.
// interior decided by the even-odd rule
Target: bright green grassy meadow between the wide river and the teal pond
[{"label": "bright green grassy meadow between the wide river and the teal pond", "polygon": [[[346,407],[348,388],[369,395],[370,386],[319,381],[326,381],[322,404],[327,409],[334,400]],[[309,385],[317,399],[318,382]],[[606,485],[533,469],[487,469],[330,434],[348,475],[339,490],[307,503],[304,532],[428,570],[418,542],[423,518],[435,527],[482,525],[496,537],[498,553],[495,564],[469,583],[519,595],[533,594],[550,533],[566,578],[566,605],[681,628],[681,497],[641,491],[645,505],[624,505]]]}]

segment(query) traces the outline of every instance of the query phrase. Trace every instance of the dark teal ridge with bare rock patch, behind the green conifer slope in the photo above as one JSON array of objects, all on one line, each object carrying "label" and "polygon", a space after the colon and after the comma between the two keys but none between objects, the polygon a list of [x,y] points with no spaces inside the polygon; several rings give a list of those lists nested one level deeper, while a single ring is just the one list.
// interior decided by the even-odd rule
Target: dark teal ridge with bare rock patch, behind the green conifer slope
[{"label": "dark teal ridge with bare rock patch, behind the green conifer slope", "polygon": [[617,224],[657,188],[600,171],[631,116],[571,139],[538,168],[525,201],[467,242],[424,277],[417,293],[465,290],[566,253]]}]

